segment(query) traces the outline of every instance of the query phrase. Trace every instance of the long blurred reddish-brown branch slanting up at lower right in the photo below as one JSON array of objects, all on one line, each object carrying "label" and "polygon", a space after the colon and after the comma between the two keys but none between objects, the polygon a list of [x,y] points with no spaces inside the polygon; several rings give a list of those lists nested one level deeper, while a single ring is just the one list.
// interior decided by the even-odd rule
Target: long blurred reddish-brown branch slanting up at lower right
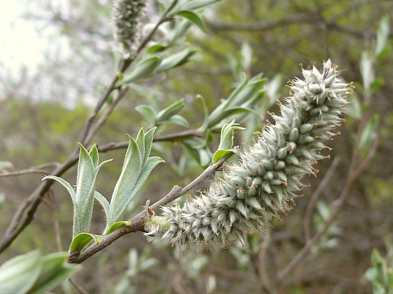
[{"label": "long blurred reddish-brown branch slanting up at lower right", "polygon": [[344,205],[345,199],[347,198],[347,196],[349,194],[349,191],[351,189],[353,182],[358,178],[360,173],[365,169],[366,165],[370,162],[372,157],[375,155],[377,147],[378,147],[378,140],[375,140],[373,147],[368,152],[366,158],[358,166],[358,168],[356,168],[354,171],[352,171],[352,169],[350,169],[345,186],[344,186],[339,198],[332,203],[333,210],[332,210],[332,214],[330,215],[329,219],[325,222],[323,228],[320,231],[318,231],[318,233],[316,233],[314,235],[314,237],[312,237],[312,239],[292,259],[292,261],[289,263],[289,265],[284,270],[281,271],[281,273],[278,276],[278,282],[281,282],[289,274],[289,272],[299,262],[301,262],[304,259],[306,254],[309,252],[311,246],[314,245],[319,240],[319,238],[329,229],[330,225],[335,220],[338,213],[341,211],[341,209]]}]

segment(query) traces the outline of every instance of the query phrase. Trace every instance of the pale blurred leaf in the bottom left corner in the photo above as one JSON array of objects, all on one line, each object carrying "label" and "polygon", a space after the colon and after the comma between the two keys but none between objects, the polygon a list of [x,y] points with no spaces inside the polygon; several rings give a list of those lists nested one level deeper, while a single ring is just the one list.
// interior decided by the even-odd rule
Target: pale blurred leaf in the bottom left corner
[{"label": "pale blurred leaf in the bottom left corner", "polygon": [[41,251],[39,249],[6,261],[0,266],[0,293],[27,293],[37,280],[41,268]]}]

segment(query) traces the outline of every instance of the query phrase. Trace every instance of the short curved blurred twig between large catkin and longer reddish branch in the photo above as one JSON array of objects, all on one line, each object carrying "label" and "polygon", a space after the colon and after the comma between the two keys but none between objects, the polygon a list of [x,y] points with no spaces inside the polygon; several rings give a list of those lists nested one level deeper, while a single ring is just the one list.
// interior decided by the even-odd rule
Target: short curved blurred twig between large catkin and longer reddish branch
[{"label": "short curved blurred twig between large catkin and longer reddish branch", "polygon": [[323,177],[321,183],[319,184],[318,188],[315,190],[314,194],[312,194],[309,205],[307,206],[306,209],[306,214],[304,216],[304,221],[303,221],[303,227],[304,227],[304,234],[306,237],[306,243],[310,241],[311,239],[311,233],[310,233],[310,219],[311,219],[311,213],[312,210],[315,207],[316,201],[319,198],[319,195],[322,193],[322,191],[325,189],[326,185],[329,183],[330,178],[333,175],[333,172],[335,171],[338,162],[340,161],[339,157],[337,156],[331,166],[329,167],[329,170],[326,172],[325,176]]}]

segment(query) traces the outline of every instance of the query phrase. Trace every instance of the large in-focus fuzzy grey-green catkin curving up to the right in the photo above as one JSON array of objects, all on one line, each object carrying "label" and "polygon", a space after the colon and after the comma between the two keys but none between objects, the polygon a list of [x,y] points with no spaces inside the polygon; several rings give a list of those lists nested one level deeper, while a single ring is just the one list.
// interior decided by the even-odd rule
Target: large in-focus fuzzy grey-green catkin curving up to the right
[{"label": "large in-focus fuzzy grey-green catkin curving up to the right", "polygon": [[226,165],[207,191],[189,197],[183,207],[166,206],[162,216],[146,218],[148,240],[169,239],[179,254],[226,247],[236,239],[245,244],[245,234],[290,210],[304,187],[301,179],[315,174],[312,166],[324,158],[319,151],[335,135],[352,90],[336,68],[328,60],[322,72],[303,69],[304,79],[290,82],[281,116],[272,115],[275,124],[239,152],[237,164]]}]

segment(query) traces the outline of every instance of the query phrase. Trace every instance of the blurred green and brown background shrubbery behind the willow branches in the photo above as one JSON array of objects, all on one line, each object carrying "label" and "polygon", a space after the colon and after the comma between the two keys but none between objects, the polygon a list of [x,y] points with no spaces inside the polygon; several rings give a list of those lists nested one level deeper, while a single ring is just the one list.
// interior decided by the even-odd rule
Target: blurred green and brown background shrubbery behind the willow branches
[{"label": "blurred green and brown background shrubbery behind the willow branches", "polygon": [[[46,62],[38,71],[22,68],[18,76],[8,75],[5,68],[0,71],[0,160],[13,164],[13,168],[7,168],[11,172],[63,162],[76,147],[89,111],[115,72],[110,0],[22,2],[26,4],[23,17],[38,31],[49,31],[50,38],[48,50],[43,52]],[[159,3],[152,1],[147,9],[149,18],[157,18],[159,9]],[[317,165],[319,177],[307,179],[310,186],[295,209],[282,216],[282,222],[275,221],[274,227],[250,235],[248,247],[234,245],[228,250],[179,259],[168,244],[146,244],[142,234],[136,233],[84,262],[75,281],[89,293],[268,293],[266,284],[271,293],[370,293],[371,284],[364,274],[371,267],[371,252],[373,248],[386,252],[385,242],[393,237],[393,54],[387,50],[374,59],[378,82],[371,92],[365,89],[360,61],[363,52],[375,51],[378,26],[385,15],[393,15],[392,1],[224,0],[203,13],[206,34],[195,27],[187,35],[186,42],[199,49],[197,58],[168,74],[144,80],[143,90],[128,91],[93,138],[94,143],[104,145],[126,141],[126,133],[135,137],[141,126],[151,127],[136,106],[148,104],[161,110],[181,98],[186,106],[180,114],[188,120],[190,129],[197,129],[203,122],[203,104],[197,95],[204,98],[211,111],[238,85],[241,72],[249,78],[262,72],[267,83],[278,90],[270,88],[271,95],[254,108],[261,117],[249,115],[241,124],[248,128],[236,133],[236,144],[241,144],[269,119],[264,116],[266,110],[278,111],[276,99],[288,95],[285,83],[300,76],[299,64],[321,65],[331,58],[339,65],[342,77],[355,82],[354,105],[361,110],[358,117],[346,117],[347,123],[339,129],[341,136],[328,144],[333,147],[331,158],[339,161],[312,212],[312,233],[326,221],[343,189],[362,116],[368,119],[379,115],[373,133],[379,145],[335,222],[285,279],[275,282],[278,272],[305,245],[303,221],[309,199],[332,160]],[[392,35],[390,29],[388,44]],[[186,129],[170,125],[158,134]],[[219,134],[213,136],[216,140],[212,144],[217,147]],[[102,160],[114,159],[98,175],[97,188],[103,195],[112,193],[124,152],[120,149],[101,154]],[[197,162],[181,155],[186,153],[177,142],[155,143],[152,155],[156,154],[167,163],[152,172],[138,201],[129,208],[129,217],[141,210],[147,198],[155,201],[173,185],[184,186],[203,171]],[[42,176],[0,177],[1,235]],[[64,175],[71,183],[75,177],[76,168]],[[0,255],[0,262],[36,245],[42,245],[45,253],[57,251],[60,246],[68,248],[72,203],[59,186],[51,191],[35,221]],[[99,209],[94,212],[92,233],[104,229],[103,217]],[[56,293],[77,291],[64,283]]]}]

